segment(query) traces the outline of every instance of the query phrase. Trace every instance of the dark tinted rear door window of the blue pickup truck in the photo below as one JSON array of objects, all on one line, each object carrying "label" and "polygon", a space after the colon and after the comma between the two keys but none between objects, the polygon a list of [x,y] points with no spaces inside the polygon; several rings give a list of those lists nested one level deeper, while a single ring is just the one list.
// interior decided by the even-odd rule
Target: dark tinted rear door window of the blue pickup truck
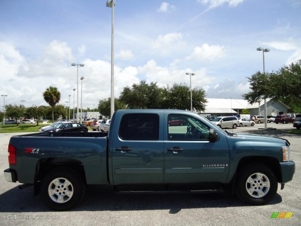
[{"label": "dark tinted rear door window of the blue pickup truck", "polygon": [[159,115],[123,115],[119,126],[119,137],[123,140],[159,140]]}]

